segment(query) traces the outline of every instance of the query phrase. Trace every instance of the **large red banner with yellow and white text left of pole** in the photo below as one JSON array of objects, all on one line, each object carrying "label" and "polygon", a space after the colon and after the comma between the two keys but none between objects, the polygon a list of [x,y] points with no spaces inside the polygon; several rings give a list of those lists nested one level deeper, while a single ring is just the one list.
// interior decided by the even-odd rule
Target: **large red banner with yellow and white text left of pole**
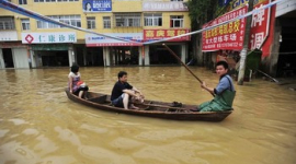
[{"label": "large red banner with yellow and white text left of pole", "polygon": [[[203,28],[209,27],[223,22],[228,22],[238,15],[248,12],[247,5],[234,10],[203,25]],[[246,19],[229,22],[209,31],[203,32],[203,51],[215,51],[219,49],[242,49]]]}]

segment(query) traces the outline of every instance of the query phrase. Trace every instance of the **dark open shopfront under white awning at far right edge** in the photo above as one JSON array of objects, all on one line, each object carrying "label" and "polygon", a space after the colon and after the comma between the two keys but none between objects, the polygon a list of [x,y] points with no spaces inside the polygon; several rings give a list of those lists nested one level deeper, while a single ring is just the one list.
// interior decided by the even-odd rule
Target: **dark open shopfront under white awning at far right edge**
[{"label": "dark open shopfront under white awning at far right edge", "polygon": [[[295,7],[295,8],[291,8]],[[271,69],[276,77],[296,75],[296,2],[284,0],[276,7]],[[277,52],[278,51],[278,52]],[[277,60],[276,60],[277,59]],[[276,68],[276,69],[274,69]]]}]

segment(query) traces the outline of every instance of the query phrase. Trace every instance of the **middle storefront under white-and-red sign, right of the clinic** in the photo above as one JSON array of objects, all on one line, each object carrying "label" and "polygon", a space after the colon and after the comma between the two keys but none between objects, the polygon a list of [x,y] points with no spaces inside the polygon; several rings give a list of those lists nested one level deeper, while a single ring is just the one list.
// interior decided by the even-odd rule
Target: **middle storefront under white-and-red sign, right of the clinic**
[{"label": "middle storefront under white-and-red sign, right of the clinic", "polygon": [[[141,65],[143,33],[110,33],[113,37],[130,42],[117,40],[104,36],[86,34],[87,49],[102,49],[103,66]],[[96,61],[101,61],[98,58]]]}]

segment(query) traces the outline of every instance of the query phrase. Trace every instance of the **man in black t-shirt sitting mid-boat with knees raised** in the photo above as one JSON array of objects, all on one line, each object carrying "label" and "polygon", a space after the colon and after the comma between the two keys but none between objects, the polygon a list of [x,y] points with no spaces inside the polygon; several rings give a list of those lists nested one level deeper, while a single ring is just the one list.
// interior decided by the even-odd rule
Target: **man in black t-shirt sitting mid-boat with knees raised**
[{"label": "man in black t-shirt sitting mid-boat with knees raised", "polygon": [[124,107],[125,109],[138,109],[138,107],[134,106],[134,104],[130,103],[133,96],[136,99],[144,98],[144,95],[139,90],[127,83],[127,72],[118,72],[118,81],[114,84],[111,94],[112,105],[116,107]]}]

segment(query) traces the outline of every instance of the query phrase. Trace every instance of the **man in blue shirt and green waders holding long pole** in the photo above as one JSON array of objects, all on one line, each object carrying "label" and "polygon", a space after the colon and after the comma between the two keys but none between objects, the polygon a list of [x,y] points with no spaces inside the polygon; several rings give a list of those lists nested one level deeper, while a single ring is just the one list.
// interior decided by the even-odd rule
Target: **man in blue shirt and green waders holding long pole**
[{"label": "man in blue shirt and green waders holding long pole", "polygon": [[228,63],[226,61],[218,61],[216,63],[216,73],[219,75],[220,81],[216,89],[208,87],[205,82],[202,83],[201,86],[206,91],[214,93],[215,97],[210,102],[201,104],[198,106],[200,112],[223,112],[232,109],[236,91],[232,79],[227,72]]}]

